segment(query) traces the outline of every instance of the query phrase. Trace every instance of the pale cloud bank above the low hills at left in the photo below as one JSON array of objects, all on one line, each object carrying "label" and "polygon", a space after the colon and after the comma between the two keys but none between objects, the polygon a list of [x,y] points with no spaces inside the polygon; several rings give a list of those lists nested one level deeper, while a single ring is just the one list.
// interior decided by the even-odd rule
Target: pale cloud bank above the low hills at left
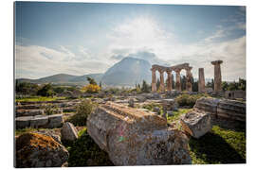
[{"label": "pale cloud bank above the low hills at left", "polygon": [[16,77],[38,78],[60,73],[103,73],[110,66],[110,63],[103,59],[82,59],[64,46],[55,50],[38,45],[17,44],[15,53]]}]

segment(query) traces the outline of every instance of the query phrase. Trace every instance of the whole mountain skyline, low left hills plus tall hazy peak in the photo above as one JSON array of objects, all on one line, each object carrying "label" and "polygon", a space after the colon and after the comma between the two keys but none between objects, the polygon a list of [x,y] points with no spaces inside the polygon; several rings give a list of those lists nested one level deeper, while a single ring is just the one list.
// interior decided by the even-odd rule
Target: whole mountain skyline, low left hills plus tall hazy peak
[{"label": "whole mountain skyline, low left hills plus tall hazy peak", "polygon": [[90,74],[74,76],[58,74],[38,79],[19,78],[18,81],[43,84],[53,83],[61,85],[84,85],[87,84],[86,76],[90,76],[99,84],[102,81],[106,86],[135,86],[142,83],[143,79],[151,83],[151,64],[144,59],[124,58],[110,67],[104,74]]}]

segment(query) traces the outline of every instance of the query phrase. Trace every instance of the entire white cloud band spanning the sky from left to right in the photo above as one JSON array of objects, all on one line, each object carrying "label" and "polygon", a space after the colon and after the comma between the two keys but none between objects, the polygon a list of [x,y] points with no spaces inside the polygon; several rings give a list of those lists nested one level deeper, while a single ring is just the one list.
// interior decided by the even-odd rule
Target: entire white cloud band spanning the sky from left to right
[{"label": "entire white cloud band spanning the sky from left to right", "polygon": [[[38,78],[59,73],[104,73],[120,59],[134,57],[165,66],[189,62],[193,67],[194,77],[198,76],[198,68],[203,67],[208,78],[213,77],[210,61],[222,59],[223,79],[246,77],[246,37],[220,41],[234,29],[246,29],[245,22],[237,18],[233,17],[236,25],[216,26],[216,29],[201,41],[186,44],[149,17],[137,17],[113,26],[111,32],[106,35],[109,43],[99,48],[96,53],[82,45],[75,49],[63,45],[60,45],[59,49],[51,49],[17,43],[16,76]],[[198,30],[197,33],[202,31]]]}]

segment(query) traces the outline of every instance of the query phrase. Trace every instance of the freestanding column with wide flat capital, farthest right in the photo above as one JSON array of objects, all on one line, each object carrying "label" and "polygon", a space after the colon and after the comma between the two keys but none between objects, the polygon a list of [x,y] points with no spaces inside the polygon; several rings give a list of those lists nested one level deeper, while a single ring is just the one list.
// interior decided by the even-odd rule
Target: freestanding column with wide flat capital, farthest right
[{"label": "freestanding column with wide flat capital, farthest right", "polygon": [[211,61],[211,64],[214,65],[214,92],[222,92],[221,87],[221,68],[220,64],[222,63],[222,60],[214,60]]}]

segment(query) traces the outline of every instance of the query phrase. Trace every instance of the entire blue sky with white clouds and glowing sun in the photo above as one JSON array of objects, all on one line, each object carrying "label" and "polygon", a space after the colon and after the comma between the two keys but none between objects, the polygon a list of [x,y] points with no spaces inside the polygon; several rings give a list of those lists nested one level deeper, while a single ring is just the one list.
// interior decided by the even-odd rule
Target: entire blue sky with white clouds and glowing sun
[{"label": "entire blue sky with white clouds and glowing sun", "polygon": [[104,73],[125,57],[206,78],[222,59],[223,80],[246,78],[246,7],[15,3],[16,78]]}]

